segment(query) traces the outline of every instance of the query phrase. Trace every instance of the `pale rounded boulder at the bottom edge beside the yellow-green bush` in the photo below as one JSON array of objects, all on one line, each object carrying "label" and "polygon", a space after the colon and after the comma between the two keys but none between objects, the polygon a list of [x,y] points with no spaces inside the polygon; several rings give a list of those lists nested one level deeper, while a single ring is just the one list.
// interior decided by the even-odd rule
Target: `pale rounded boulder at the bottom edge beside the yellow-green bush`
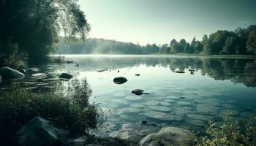
[{"label": "pale rounded boulder at the bottom edge beside the yellow-green bush", "polygon": [[140,141],[140,146],[195,145],[195,134],[184,128],[166,127],[149,134]]}]

